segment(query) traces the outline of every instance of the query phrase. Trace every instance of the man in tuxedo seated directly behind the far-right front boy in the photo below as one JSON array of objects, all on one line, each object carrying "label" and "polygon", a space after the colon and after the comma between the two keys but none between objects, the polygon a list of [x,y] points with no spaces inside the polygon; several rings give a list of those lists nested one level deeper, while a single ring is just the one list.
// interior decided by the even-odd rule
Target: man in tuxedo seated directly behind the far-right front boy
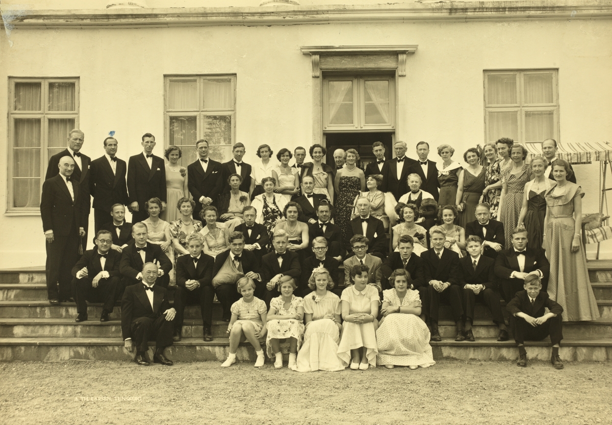
[{"label": "man in tuxedo seated directly behind the far-right front boy", "polygon": [[542,249],[527,248],[527,242],[526,229],[517,227],[512,232],[512,248],[500,251],[495,259],[495,275],[507,303],[521,290],[529,275],[538,276],[544,290],[548,286],[550,263]]}]

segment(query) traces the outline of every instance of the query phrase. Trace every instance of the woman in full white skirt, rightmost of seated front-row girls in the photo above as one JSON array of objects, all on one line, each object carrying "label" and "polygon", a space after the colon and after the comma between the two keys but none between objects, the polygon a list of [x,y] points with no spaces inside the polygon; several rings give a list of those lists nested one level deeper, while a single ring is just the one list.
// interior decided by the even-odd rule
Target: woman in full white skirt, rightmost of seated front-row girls
[{"label": "woman in full white skirt, rightmost of seated front-row girls", "polygon": [[393,288],[383,291],[383,319],[376,330],[376,363],[387,369],[408,366],[412,371],[433,366],[436,362],[429,345],[430,332],[419,319],[419,291],[408,289],[412,284],[410,273],[399,268],[391,273],[389,283]]}]

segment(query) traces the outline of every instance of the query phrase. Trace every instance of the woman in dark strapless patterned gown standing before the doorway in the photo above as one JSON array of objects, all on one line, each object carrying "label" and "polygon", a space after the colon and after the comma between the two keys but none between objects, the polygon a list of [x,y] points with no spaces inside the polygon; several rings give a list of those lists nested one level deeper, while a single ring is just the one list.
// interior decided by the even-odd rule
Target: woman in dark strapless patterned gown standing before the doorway
[{"label": "woman in dark strapless patterned gown standing before the doorway", "polygon": [[335,224],[340,227],[342,237],[346,236],[346,227],[351,221],[355,197],[359,191],[365,191],[365,174],[357,167],[359,153],[355,149],[346,151],[346,166],[336,173],[336,218]]}]

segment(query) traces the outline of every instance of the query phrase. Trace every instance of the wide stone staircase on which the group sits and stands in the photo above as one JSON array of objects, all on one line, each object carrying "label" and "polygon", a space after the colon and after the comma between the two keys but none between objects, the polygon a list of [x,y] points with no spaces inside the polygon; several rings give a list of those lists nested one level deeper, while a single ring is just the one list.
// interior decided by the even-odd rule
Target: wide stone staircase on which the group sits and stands
[{"label": "wide stone staircase on which the group sits and stands", "polygon": [[[593,322],[564,323],[560,355],[565,361],[612,360],[612,261],[590,261],[588,265],[602,317]],[[0,270],[0,360],[129,360],[133,353],[123,348],[119,303],[111,314],[110,322],[100,322],[100,312],[101,305],[90,305],[89,320],[76,323],[75,303],[48,303],[42,267]],[[505,308],[504,314],[507,314]],[[476,342],[455,342],[455,324],[450,320],[450,308],[442,307],[439,323],[442,341],[431,342],[434,358],[517,358],[517,348],[512,339],[496,341],[498,328],[491,322],[484,306],[477,305],[475,316]],[[166,350],[168,358],[176,361],[225,360],[229,348],[225,333],[227,323],[215,320],[220,317],[221,307],[215,303],[212,325],[214,341],[204,342],[198,308],[185,308],[184,338]],[[548,339],[528,342],[529,358],[550,359],[549,344]],[[242,344],[237,358],[255,361],[255,352],[250,344]]]}]

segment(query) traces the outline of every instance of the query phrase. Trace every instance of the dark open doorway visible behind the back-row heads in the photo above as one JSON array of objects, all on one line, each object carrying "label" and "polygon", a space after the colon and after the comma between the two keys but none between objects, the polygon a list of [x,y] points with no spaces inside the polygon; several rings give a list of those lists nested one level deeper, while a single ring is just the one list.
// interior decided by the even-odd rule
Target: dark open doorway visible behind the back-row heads
[{"label": "dark open doorway visible behind the back-row heads", "polygon": [[334,166],[334,150],[355,149],[359,152],[359,163],[357,166],[365,169],[365,166],[375,160],[372,153],[374,142],[383,142],[385,147],[385,158],[393,157],[393,134],[394,133],[327,133],[325,135],[325,146],[327,147],[326,163]]}]

